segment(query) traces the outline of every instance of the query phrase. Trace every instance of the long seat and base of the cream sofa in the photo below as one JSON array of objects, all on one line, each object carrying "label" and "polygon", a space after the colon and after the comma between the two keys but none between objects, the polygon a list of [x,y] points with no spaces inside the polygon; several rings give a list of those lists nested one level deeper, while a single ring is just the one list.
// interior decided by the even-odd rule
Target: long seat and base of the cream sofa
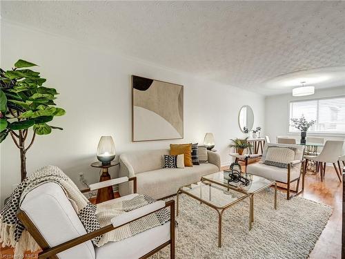
[{"label": "long seat and base of the cream sofa", "polygon": [[218,172],[215,164],[200,164],[184,169],[160,169],[137,174],[137,193],[155,199],[176,194],[179,187],[198,182],[201,176]]}]

